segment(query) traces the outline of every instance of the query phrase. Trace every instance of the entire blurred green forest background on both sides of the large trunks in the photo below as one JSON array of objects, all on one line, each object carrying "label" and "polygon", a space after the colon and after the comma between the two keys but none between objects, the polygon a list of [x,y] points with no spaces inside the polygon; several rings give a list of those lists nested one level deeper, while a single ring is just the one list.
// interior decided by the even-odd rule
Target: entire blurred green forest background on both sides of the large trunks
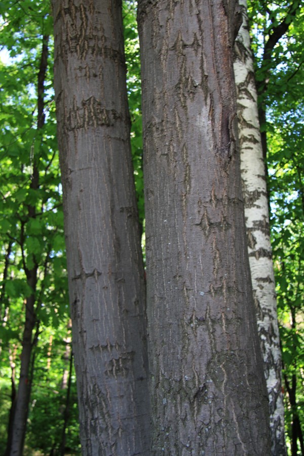
[{"label": "entire blurred green forest background on both sides of the large trunks", "polygon": [[[139,43],[136,2],[124,1],[134,178],[144,251]],[[268,193],[278,296],[286,440],[303,451],[303,8],[248,3],[258,105],[266,119]],[[282,24],[284,27],[282,27]],[[31,395],[25,455],[80,454],[71,351],[62,189],[47,1],[0,2],[0,452],[18,388],[26,303],[32,299]],[[280,31],[282,33],[280,33]],[[270,37],[274,42],[269,51]],[[277,37],[277,40],[275,40]],[[36,166],[34,157],[39,157]]]}]

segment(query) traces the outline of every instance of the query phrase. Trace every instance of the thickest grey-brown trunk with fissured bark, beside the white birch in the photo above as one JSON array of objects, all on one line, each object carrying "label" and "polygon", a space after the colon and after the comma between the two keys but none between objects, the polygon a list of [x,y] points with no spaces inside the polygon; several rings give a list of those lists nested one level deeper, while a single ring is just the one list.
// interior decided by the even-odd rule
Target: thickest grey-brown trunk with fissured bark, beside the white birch
[{"label": "thickest grey-brown trunk with fissured bark, beside the white birch", "polygon": [[270,454],[237,140],[235,2],[138,2],[152,454]]}]

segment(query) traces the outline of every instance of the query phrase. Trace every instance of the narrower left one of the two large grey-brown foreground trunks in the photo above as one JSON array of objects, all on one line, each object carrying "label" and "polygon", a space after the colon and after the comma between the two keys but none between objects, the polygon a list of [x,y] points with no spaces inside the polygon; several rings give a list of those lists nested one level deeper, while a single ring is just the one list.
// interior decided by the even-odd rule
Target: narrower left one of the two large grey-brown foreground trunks
[{"label": "narrower left one of the two large grey-brown foreground trunks", "polygon": [[55,94],[83,454],[148,454],[145,289],[121,2],[53,1]]}]

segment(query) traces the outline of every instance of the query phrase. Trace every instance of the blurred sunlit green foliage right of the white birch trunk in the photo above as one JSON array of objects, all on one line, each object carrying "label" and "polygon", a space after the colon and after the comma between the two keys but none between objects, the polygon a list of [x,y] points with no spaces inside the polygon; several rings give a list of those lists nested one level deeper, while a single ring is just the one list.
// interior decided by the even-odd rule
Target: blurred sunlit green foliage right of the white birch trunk
[{"label": "blurred sunlit green foliage right of the white birch trunk", "polygon": [[270,197],[290,454],[303,433],[303,4],[252,0],[249,22]]}]

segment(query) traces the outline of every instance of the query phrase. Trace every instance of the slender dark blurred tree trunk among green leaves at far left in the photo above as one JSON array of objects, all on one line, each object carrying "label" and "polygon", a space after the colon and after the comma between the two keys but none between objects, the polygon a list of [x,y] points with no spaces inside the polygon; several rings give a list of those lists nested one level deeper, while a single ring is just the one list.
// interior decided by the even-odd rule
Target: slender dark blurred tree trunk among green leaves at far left
[{"label": "slender dark blurred tree trunk among green leaves at far left", "polygon": [[[36,150],[34,146],[32,148],[32,156],[30,158],[31,170],[29,182],[26,185],[26,191],[28,191],[30,199],[35,194],[35,192],[38,191],[40,188],[40,148],[43,142],[42,130],[45,126],[45,80],[48,64],[48,41],[49,35],[44,34],[42,37],[42,51],[39,61],[39,71],[37,75],[37,123],[35,132],[35,140],[37,141],[37,147]],[[51,249],[50,244],[46,246],[45,251],[35,251],[34,249],[32,254],[28,255],[27,259],[25,259],[25,224],[27,224],[27,227],[29,227],[29,231],[32,229],[32,227],[34,227],[35,230],[37,225],[40,227],[39,222],[35,223],[37,219],[37,212],[38,210],[40,210],[41,212],[44,212],[45,210],[44,203],[42,203],[42,205],[40,204],[40,207],[38,208],[38,205],[35,204],[36,202],[34,200],[35,198],[32,198],[32,201],[27,202],[28,204],[24,207],[25,211],[20,217],[21,219],[19,241],[21,246],[22,266],[26,276],[26,284],[30,291],[28,293],[28,296],[25,297],[24,301],[25,323],[22,336],[22,351],[20,355],[20,376],[16,396],[12,401],[11,407],[9,423],[9,441],[7,449],[8,454],[20,454],[23,452],[26,422],[28,415],[28,405],[32,382],[32,370],[34,364],[34,353],[32,353],[32,349],[37,343],[37,337],[40,330],[40,322],[36,317],[36,307],[38,307],[41,304],[39,301],[36,300],[36,295],[38,291],[37,281],[39,280],[40,274],[42,274],[44,277],[47,273]],[[12,241],[13,240],[14,239],[12,239]],[[41,262],[42,264],[40,264]],[[41,267],[40,272],[39,267]],[[35,326],[36,333],[33,336]]]}]

